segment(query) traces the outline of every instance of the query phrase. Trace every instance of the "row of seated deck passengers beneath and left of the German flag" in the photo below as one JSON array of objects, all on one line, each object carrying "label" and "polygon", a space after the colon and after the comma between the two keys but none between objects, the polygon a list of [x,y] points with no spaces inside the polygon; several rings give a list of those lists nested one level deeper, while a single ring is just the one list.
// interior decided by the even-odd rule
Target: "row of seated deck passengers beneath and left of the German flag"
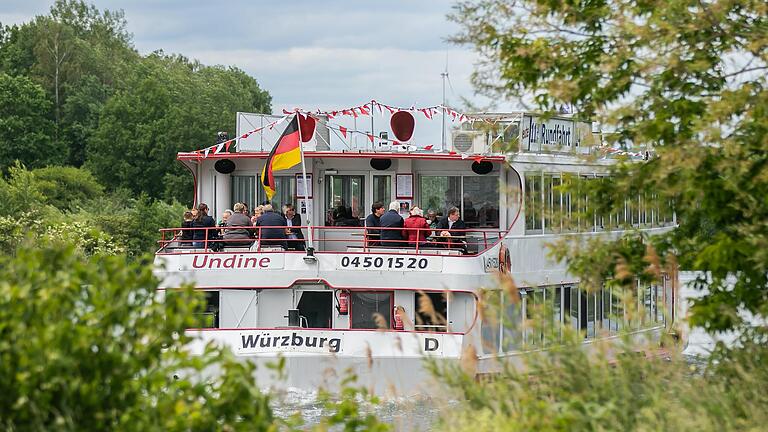
[{"label": "row of seated deck passengers beneath and left of the German flag", "polygon": [[[304,250],[301,216],[292,204],[285,204],[278,213],[271,204],[258,206],[249,215],[248,206],[236,203],[232,210],[224,210],[218,225],[208,215],[209,208],[200,203],[196,209],[184,212],[181,245],[207,247],[216,251],[225,246],[250,247],[258,239],[262,246],[282,246],[286,250]],[[295,227],[295,228],[294,228]],[[214,229],[218,228],[218,229]]]}]

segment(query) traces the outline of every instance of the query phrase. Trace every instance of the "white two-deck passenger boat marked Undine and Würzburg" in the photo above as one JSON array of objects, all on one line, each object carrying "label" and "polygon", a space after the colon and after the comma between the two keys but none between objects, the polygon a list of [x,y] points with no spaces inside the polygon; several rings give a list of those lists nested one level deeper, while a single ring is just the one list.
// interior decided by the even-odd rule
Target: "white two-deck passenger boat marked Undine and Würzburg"
[{"label": "white two-deck passenger boat marked Undine and W\u00fcrzburg", "polygon": [[[600,144],[589,123],[527,112],[480,114],[451,129],[443,149],[393,142],[373,125],[355,145],[334,129],[331,116],[318,117],[304,144],[306,185],[299,166],[277,172],[272,200],[277,208],[297,206],[313,251],[258,240],[225,242],[214,251],[214,241],[195,248],[180,240],[179,229],[162,230],[156,254],[162,289],[193,282],[206,293],[204,328],[188,330],[198,352],[210,341],[231,347],[258,364],[263,385],[332,387],[351,368],[361,384],[403,395],[428,385],[425,356],[457,361],[472,345],[482,374],[492,373],[500,357],[515,361],[546,348],[533,330],[502,328],[510,320],[522,323],[542,302],[554,305],[554,319],[582,331],[587,346],[622,329],[658,335],[675,318],[669,278],[638,284],[643,317],[630,322],[610,289],[587,293],[563,263],[548,258],[545,245],[566,234],[603,235],[626,225],[658,232],[674,224],[670,207],[650,195],[628,199],[618,214],[598,215],[589,213],[584,197],[558,188],[570,176],[599,180],[614,163],[584,157]],[[253,208],[266,199],[260,174],[284,127],[279,119],[241,113],[236,151],[219,145],[178,154],[194,177],[196,203],[218,216],[236,202]],[[404,213],[414,205],[442,215],[457,207],[466,230],[454,230],[450,241],[429,230],[423,243],[377,245],[375,233],[362,226],[375,202],[397,202]],[[585,211],[592,216],[576,216]],[[499,272],[512,276],[522,301],[497,288]],[[483,289],[506,305],[503,319],[482,319]],[[282,378],[265,367],[279,357]]]}]

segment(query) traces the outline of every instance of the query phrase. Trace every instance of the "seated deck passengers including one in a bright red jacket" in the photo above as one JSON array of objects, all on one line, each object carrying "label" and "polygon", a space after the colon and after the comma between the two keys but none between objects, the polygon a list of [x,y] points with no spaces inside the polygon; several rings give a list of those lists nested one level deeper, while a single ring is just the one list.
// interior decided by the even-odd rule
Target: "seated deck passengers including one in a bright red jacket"
[{"label": "seated deck passengers including one in a bright red jacket", "polygon": [[427,217],[424,217],[422,209],[413,207],[408,218],[403,219],[399,210],[398,202],[391,202],[389,210],[385,210],[384,204],[380,202],[371,206],[371,214],[365,218],[369,246],[421,247],[427,245],[428,237],[434,236],[436,240],[450,247],[465,248],[465,231],[461,230],[465,230],[467,226],[461,220],[457,207],[450,208],[448,215],[443,218],[438,218],[431,210]]}]

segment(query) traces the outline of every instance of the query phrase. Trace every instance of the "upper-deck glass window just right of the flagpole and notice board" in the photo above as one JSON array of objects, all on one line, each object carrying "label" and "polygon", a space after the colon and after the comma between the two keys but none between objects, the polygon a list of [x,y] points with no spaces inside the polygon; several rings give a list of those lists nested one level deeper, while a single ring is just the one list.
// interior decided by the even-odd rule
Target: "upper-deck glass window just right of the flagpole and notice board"
[{"label": "upper-deck glass window just right of the flagpole and notice board", "polygon": [[325,224],[327,226],[360,226],[360,218],[365,217],[364,191],[364,176],[325,176]]}]

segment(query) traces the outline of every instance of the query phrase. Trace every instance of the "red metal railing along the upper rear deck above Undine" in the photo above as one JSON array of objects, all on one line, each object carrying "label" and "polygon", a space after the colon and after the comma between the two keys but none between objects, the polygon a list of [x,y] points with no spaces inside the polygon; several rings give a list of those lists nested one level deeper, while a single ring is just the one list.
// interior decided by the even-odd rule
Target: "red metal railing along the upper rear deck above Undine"
[{"label": "red metal railing along the upper rear deck above Undine", "polygon": [[[305,238],[282,238],[283,234],[279,233],[288,233],[288,230],[292,230],[292,234],[301,230]],[[478,255],[493,247],[506,234],[506,231],[498,228],[450,230],[344,226],[162,228],[157,253],[301,252],[306,247],[308,230],[312,230],[315,252],[365,254]],[[388,235],[390,232],[397,234]],[[418,240],[399,239],[398,235],[403,233],[411,233],[411,238],[415,237]]]}]

